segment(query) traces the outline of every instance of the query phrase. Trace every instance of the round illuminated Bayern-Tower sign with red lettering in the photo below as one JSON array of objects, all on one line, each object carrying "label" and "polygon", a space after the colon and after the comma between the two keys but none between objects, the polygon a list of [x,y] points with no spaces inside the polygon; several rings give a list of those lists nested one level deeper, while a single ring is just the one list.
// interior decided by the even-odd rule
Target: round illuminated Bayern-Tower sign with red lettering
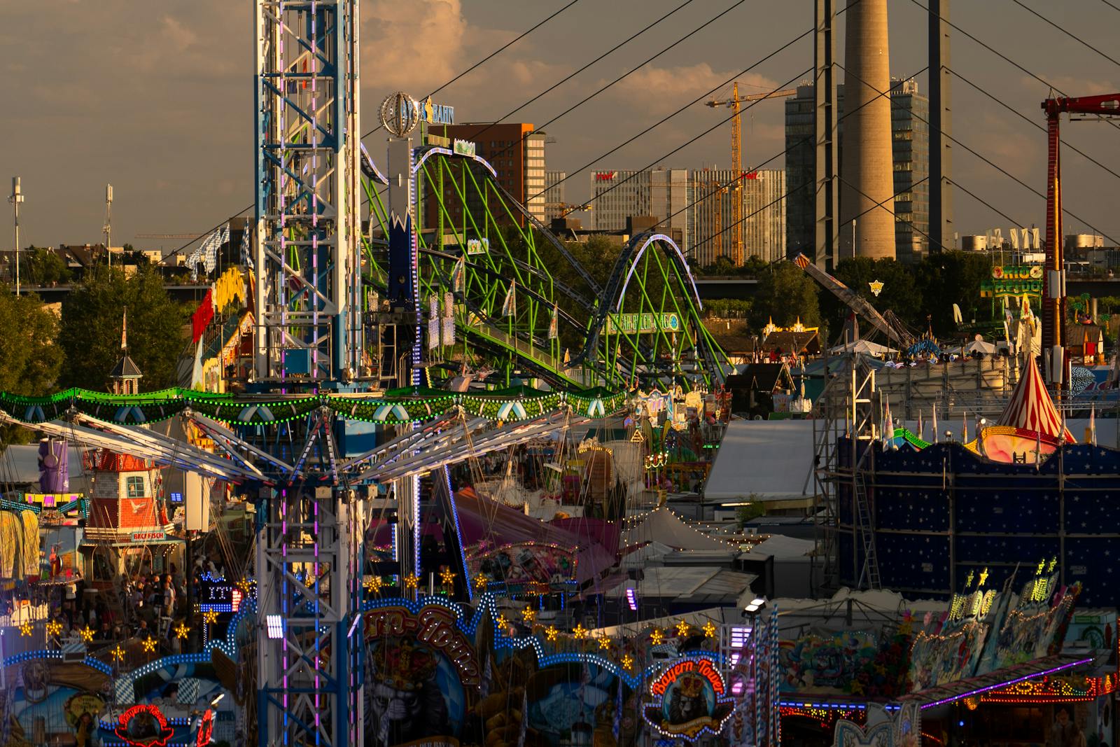
[{"label": "round illuminated Bayern-Tower sign with red lettering", "polygon": [[666,737],[718,735],[734,711],[725,692],[724,676],[712,660],[679,661],[650,685],[654,702],[645,708],[645,720]]}]

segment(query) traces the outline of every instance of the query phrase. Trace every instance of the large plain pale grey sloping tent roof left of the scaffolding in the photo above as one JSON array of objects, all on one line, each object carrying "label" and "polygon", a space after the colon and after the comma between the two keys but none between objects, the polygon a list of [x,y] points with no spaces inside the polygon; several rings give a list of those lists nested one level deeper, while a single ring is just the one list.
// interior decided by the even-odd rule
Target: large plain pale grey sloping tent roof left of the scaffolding
[{"label": "large plain pale grey sloping tent roof left of the scaffolding", "polygon": [[812,468],[811,420],[732,420],[704,484],[704,498],[809,495]]}]

